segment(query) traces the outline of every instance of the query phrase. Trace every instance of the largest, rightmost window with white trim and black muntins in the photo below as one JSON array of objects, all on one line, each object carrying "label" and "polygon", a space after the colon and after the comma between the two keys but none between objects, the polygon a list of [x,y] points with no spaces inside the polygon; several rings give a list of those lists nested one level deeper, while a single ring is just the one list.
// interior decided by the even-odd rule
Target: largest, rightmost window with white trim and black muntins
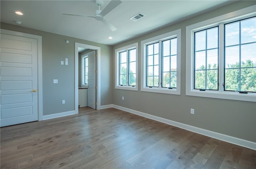
[{"label": "largest, rightmost window with white trim and black muntins", "polygon": [[186,27],[186,95],[256,102],[255,7]]}]

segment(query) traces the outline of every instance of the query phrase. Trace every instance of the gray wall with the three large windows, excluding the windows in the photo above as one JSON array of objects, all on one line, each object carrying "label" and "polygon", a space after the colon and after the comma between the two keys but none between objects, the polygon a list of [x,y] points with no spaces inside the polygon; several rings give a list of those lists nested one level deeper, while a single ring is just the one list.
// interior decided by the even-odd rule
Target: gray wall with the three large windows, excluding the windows
[{"label": "gray wall with the three large windows, excluding the windows", "polygon": [[[113,47],[114,50],[132,43],[138,42],[138,91],[114,89],[113,104],[123,106],[154,116],[166,118],[176,122],[196,126],[213,132],[218,132],[256,142],[256,104],[255,102],[244,102],[236,100],[224,100],[216,98],[204,98],[186,96],[185,94],[185,70],[186,70],[186,26],[203,20],[214,18],[241,8],[252,6],[255,1],[239,1],[228,6],[219,8],[184,20],[177,24],[167,26],[152,33],[148,33],[136,39],[120,43]],[[161,35],[176,29],[182,29],[181,49],[181,95],[160,94],[140,91],[140,41]],[[113,60],[114,63],[114,60]],[[114,67],[113,67],[114,71]],[[124,96],[124,100],[122,100]],[[195,114],[190,114],[190,108],[195,109]]]}]

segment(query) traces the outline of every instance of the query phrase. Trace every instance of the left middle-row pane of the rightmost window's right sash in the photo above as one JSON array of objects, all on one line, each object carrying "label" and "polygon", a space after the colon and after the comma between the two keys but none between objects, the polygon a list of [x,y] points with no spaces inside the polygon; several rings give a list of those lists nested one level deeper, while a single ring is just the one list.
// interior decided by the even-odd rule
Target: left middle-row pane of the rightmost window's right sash
[{"label": "left middle-row pane of the rightmost window's right sash", "polygon": [[225,48],[225,68],[239,67],[239,46]]}]

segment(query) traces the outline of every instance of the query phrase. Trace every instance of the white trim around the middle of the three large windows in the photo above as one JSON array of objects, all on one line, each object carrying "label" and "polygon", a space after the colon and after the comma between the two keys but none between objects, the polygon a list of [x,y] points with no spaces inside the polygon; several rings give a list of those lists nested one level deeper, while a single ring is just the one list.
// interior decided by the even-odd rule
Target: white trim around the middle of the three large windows
[{"label": "white trim around the middle of the three large windows", "polygon": [[[155,41],[170,39],[172,37],[177,37],[177,88],[160,88],[160,87],[148,87],[146,86],[146,45],[154,43]],[[144,92],[156,92],[165,94],[177,94],[180,95],[180,67],[181,67],[181,29],[164,33],[150,39],[141,41],[141,91]],[[162,68],[161,68],[162,69]]]}]

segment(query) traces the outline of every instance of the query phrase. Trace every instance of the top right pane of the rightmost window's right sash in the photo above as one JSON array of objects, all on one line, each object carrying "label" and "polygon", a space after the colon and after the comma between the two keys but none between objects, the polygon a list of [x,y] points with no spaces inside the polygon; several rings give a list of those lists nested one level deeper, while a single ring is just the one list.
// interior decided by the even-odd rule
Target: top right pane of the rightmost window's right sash
[{"label": "top right pane of the rightmost window's right sash", "polygon": [[256,41],[256,18],[241,21],[241,43]]}]

